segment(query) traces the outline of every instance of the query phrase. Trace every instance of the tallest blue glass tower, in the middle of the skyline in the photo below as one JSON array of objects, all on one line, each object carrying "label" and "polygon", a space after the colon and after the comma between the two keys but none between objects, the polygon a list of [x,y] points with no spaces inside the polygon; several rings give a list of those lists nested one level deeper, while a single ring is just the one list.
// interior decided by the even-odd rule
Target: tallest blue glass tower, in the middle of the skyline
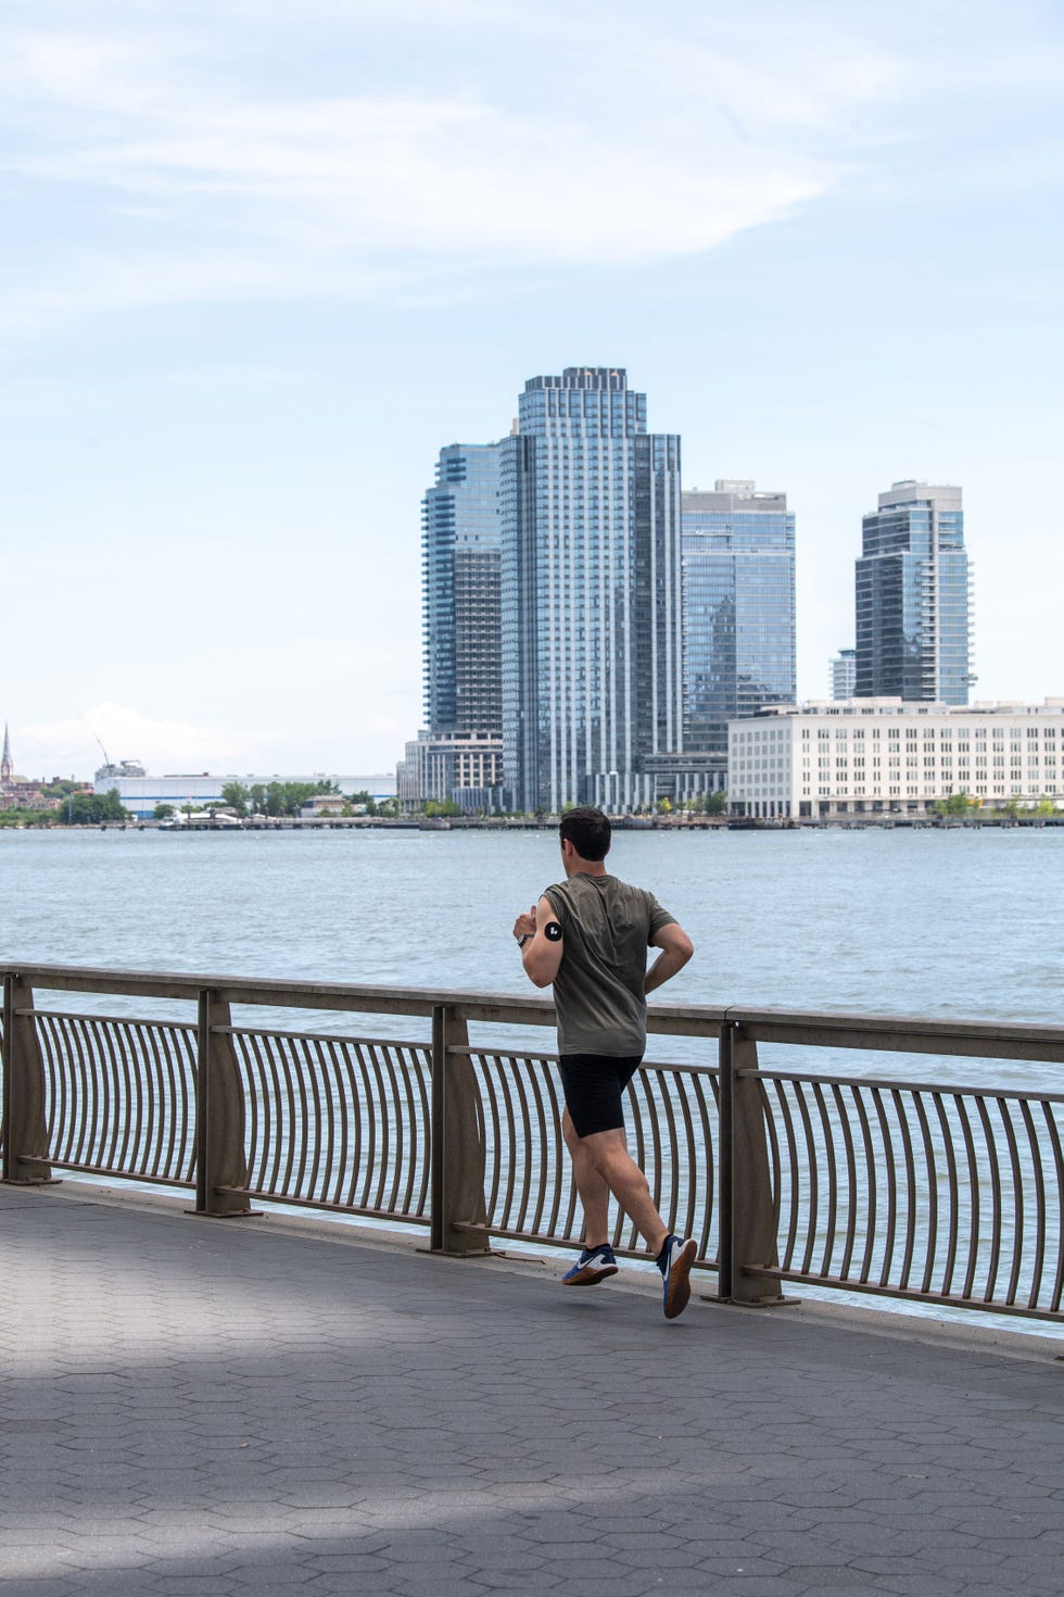
[{"label": "tallest blue glass tower, in the middle of the skyline", "polygon": [[499,450],[510,802],[644,803],[644,757],[683,749],[680,438],[624,371],[571,366]]}]

